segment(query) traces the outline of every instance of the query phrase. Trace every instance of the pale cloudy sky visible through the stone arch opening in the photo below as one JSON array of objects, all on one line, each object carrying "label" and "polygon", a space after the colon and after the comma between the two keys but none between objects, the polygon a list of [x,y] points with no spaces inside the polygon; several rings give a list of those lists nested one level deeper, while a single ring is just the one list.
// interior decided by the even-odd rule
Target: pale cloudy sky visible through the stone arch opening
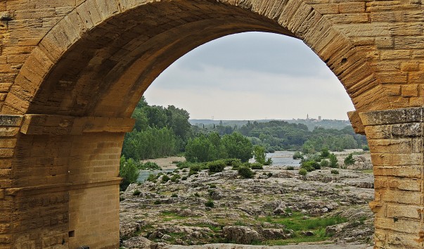
[{"label": "pale cloudy sky visible through the stone arch opening", "polygon": [[302,41],[248,32],[187,53],[144,94],[150,105],[184,108],[191,119],[347,120],[354,110],[342,84]]}]

